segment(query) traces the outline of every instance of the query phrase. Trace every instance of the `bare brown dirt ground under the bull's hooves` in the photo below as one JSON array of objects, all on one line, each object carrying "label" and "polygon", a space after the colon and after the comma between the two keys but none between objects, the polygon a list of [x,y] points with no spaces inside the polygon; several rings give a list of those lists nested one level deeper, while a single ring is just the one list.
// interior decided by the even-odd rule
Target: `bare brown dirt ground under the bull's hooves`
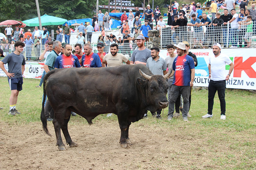
[{"label": "bare brown dirt ground under the bull's hooves", "polygon": [[[207,158],[211,153],[219,152],[221,156],[222,151],[229,148],[223,145],[223,148],[214,146],[207,150],[196,137],[201,127],[185,132],[186,123],[182,120],[175,130],[166,121],[145,121],[131,124],[132,145],[128,149],[120,147],[120,129],[116,120],[98,120],[91,126],[69,123],[71,138],[78,147],[66,146],[66,151],[58,151],[55,146],[51,122],[48,129],[52,136],[43,132],[41,122],[19,125],[0,122],[0,169],[221,169],[222,166],[214,165]],[[63,136],[62,139],[65,143]]]}]

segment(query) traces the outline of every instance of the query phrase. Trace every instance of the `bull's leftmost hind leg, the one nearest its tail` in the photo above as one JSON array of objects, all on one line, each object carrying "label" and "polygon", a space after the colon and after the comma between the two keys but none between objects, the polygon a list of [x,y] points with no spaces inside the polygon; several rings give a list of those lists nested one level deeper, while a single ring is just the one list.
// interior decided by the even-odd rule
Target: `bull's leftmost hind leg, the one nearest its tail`
[{"label": "bull's leftmost hind leg, the one nearest its tail", "polygon": [[53,126],[54,126],[56,140],[57,140],[56,145],[58,146],[59,150],[63,151],[63,150],[66,150],[66,147],[61,138],[61,127],[64,124],[64,117],[65,117],[66,110],[64,109],[56,109],[56,110],[57,111],[54,111],[55,114],[53,118]]}]

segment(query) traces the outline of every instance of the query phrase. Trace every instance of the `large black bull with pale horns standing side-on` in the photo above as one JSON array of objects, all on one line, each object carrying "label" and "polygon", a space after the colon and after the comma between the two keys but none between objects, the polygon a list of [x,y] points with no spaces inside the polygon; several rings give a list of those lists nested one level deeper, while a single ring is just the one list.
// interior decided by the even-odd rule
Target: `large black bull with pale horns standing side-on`
[{"label": "large black bull with pale horns standing side-on", "polygon": [[[168,84],[166,78],[153,75],[142,64],[109,68],[54,69],[44,78],[44,96],[54,110],[54,129],[59,150],[66,150],[61,129],[70,147],[77,147],[68,133],[67,123],[71,111],[84,117],[89,124],[99,114],[117,114],[121,129],[120,144],[128,147],[131,122],[143,118],[147,110],[166,108]],[[47,120],[42,103],[41,121],[46,134]]]}]

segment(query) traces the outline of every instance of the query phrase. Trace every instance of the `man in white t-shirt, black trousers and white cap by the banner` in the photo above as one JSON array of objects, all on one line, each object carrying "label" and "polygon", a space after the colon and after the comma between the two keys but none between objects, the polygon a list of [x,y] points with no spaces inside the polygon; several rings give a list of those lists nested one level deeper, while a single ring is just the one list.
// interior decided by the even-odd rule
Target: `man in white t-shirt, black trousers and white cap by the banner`
[{"label": "man in white t-shirt, black trousers and white cap by the banner", "polygon": [[[208,113],[202,116],[202,118],[212,117],[213,100],[216,91],[218,91],[218,96],[220,99],[220,119],[225,120],[226,112],[226,101],[225,101],[225,90],[226,90],[226,80],[229,79],[231,72],[234,69],[234,64],[230,58],[220,53],[221,46],[219,43],[214,43],[212,46],[212,51],[214,56],[209,58],[209,86],[208,86]],[[226,64],[229,64],[229,72],[226,73]]]}]

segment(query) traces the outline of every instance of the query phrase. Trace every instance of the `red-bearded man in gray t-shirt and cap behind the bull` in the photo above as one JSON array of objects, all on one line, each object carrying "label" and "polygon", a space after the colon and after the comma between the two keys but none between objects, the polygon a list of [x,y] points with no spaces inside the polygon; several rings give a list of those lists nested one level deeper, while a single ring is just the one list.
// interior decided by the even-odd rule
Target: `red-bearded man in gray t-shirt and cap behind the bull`
[{"label": "red-bearded man in gray t-shirt and cap behind the bull", "polygon": [[151,57],[151,51],[145,47],[145,37],[139,35],[137,40],[138,49],[131,54],[130,64],[144,64],[146,66],[147,59]]}]

